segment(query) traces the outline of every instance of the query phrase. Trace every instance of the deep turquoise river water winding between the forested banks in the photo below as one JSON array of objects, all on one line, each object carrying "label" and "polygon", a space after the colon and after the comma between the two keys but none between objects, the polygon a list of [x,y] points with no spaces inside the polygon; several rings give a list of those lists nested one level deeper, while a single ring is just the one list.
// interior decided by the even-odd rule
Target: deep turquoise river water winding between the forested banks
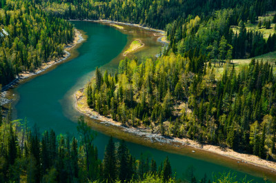
[{"label": "deep turquoise river water winding between the forested banks", "polygon": [[[128,35],[110,26],[86,21],[73,23],[88,35],[88,39],[77,49],[79,56],[14,89],[20,97],[15,106],[17,117],[21,119],[27,117],[29,126],[37,124],[41,132],[52,128],[56,133],[77,135],[76,117],[80,114],[73,107],[72,94],[87,83],[97,66],[103,66],[117,57],[128,40]],[[95,139],[100,158],[103,157],[108,138],[107,135],[98,132]],[[118,139],[115,141],[117,142]],[[235,171],[226,166],[159,151],[139,144],[128,142],[128,147],[135,157],[139,158],[140,154],[144,153],[153,157],[158,163],[168,155],[172,169],[177,171],[177,177],[182,177],[191,165],[195,168],[195,174],[199,178],[203,177],[204,173],[210,178],[213,172]],[[244,177],[246,173],[237,171],[237,176]],[[248,180],[255,179],[254,182],[264,182],[259,177],[252,175],[247,175],[247,177]]]}]

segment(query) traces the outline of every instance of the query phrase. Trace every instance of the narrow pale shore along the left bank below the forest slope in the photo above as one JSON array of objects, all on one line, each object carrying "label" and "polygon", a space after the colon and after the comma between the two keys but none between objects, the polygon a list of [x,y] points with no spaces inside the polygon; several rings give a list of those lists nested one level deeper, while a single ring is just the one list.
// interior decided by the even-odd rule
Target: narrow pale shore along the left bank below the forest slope
[{"label": "narrow pale shore along the left bank below the forest slope", "polygon": [[[2,91],[4,92],[4,91],[8,90],[12,86],[14,86],[14,84],[17,84],[22,79],[27,79],[28,77],[31,77],[33,75],[38,75],[39,73],[42,73],[43,71],[47,70],[48,68],[55,66],[56,64],[59,64],[62,61],[65,61],[66,59],[68,59],[68,57],[70,57],[69,50],[74,48],[77,44],[81,43],[81,41],[83,41],[83,40],[84,39],[81,35],[81,32],[79,32],[79,30],[75,29],[75,38],[72,41],[72,43],[67,44],[64,47],[64,50],[63,50],[64,55],[62,57],[60,57],[59,59],[55,59],[52,61],[48,61],[47,63],[41,64],[41,66],[39,68],[37,68],[36,70],[34,70],[34,72],[23,71],[13,81],[11,81],[10,84],[3,86]],[[0,101],[0,104],[1,104],[1,101]]]}]

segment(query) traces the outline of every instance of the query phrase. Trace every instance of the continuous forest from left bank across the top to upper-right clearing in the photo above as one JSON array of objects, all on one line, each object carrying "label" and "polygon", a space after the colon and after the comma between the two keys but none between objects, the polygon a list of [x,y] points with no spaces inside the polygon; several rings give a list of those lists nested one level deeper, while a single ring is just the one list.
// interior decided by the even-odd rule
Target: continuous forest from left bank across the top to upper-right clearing
[{"label": "continuous forest from left bank across the top to upper-right clearing", "polygon": [[[74,37],[72,24],[64,19],[110,19],[166,30],[170,44],[165,55],[201,52],[219,66],[226,59],[255,57],[276,48],[275,33],[264,38],[261,32],[244,26],[275,10],[275,0],[3,0],[0,6],[0,23],[8,33],[1,37],[2,85],[22,71],[33,71],[63,55],[64,45]],[[264,22],[264,27],[273,29],[270,25],[276,19],[273,21]],[[239,30],[234,32],[232,26]]]}]

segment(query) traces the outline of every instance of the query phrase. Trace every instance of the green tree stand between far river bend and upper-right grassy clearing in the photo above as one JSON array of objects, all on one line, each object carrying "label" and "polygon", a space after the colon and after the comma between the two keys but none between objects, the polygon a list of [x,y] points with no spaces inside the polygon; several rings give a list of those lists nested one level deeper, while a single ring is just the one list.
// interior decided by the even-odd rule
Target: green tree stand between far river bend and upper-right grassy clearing
[{"label": "green tree stand between far river bend and upper-right grassy clearing", "polygon": [[[196,16],[168,23],[166,32],[170,44],[165,54],[172,51],[184,55],[197,48],[197,52],[216,64],[226,59],[250,58],[272,52],[276,49],[274,31],[266,39],[258,30],[246,29],[246,23],[255,23],[255,12],[254,19],[250,19],[250,13],[246,14],[244,8],[228,8],[214,12],[210,18]],[[270,21],[264,23],[267,29],[271,28]]]}]

